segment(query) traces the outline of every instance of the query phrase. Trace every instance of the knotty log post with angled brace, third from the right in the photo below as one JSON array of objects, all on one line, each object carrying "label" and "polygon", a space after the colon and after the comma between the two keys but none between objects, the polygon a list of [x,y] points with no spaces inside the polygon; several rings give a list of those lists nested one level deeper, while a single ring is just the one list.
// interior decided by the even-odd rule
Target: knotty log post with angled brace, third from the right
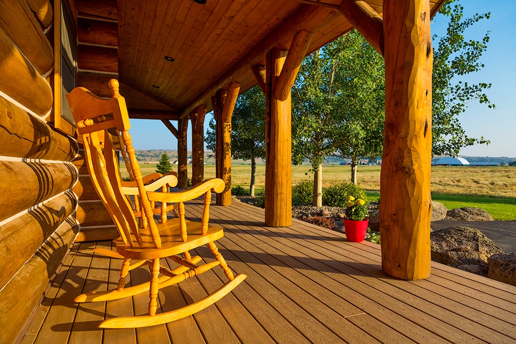
[{"label": "knotty log post with angled brace, third from the right", "polygon": [[231,117],[235,109],[240,84],[231,83],[228,93],[219,90],[212,97],[215,116],[215,174],[225,183],[224,191],[217,193],[217,205],[231,204]]}]

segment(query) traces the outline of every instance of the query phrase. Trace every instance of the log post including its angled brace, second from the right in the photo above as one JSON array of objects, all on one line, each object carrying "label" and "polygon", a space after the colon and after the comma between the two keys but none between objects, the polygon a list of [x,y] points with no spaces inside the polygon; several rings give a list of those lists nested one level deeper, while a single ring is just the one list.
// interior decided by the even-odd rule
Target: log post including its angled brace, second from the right
[{"label": "log post including its angled brace, second from the right", "polygon": [[312,36],[301,31],[288,54],[273,48],[266,56],[265,224],[271,227],[292,224],[291,88]]}]

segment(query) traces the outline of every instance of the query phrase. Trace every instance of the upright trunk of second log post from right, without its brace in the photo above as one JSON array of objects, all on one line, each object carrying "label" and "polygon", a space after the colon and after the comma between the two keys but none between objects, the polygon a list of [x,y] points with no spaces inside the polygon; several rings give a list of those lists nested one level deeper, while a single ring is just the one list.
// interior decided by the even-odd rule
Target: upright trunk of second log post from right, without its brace
[{"label": "upright trunk of second log post from right, without its brace", "polygon": [[265,65],[265,223],[272,227],[292,224],[292,99],[290,93],[284,101],[276,96],[286,55],[273,48]]}]

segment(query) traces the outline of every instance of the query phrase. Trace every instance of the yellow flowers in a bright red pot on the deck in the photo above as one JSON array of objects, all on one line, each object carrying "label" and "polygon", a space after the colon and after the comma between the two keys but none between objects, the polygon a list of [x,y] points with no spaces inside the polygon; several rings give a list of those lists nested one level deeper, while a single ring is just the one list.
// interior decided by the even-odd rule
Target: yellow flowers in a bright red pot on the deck
[{"label": "yellow flowers in a bright red pot on the deck", "polygon": [[369,219],[366,219],[369,217],[369,211],[365,206],[365,201],[349,196],[346,205],[346,218],[344,219],[346,238],[352,242],[362,242],[369,224]]}]

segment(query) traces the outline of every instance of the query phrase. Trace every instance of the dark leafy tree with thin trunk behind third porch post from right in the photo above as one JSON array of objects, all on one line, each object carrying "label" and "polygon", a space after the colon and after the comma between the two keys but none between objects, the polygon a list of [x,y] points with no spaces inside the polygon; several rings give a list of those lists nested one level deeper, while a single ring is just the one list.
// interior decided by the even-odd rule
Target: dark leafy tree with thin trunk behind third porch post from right
[{"label": "dark leafy tree with thin trunk behind third porch post from right", "polygon": [[[256,159],[265,159],[265,96],[259,86],[240,94],[231,118],[231,155],[251,160],[249,195],[254,196]],[[215,151],[215,120],[209,121],[206,147]]]}]

